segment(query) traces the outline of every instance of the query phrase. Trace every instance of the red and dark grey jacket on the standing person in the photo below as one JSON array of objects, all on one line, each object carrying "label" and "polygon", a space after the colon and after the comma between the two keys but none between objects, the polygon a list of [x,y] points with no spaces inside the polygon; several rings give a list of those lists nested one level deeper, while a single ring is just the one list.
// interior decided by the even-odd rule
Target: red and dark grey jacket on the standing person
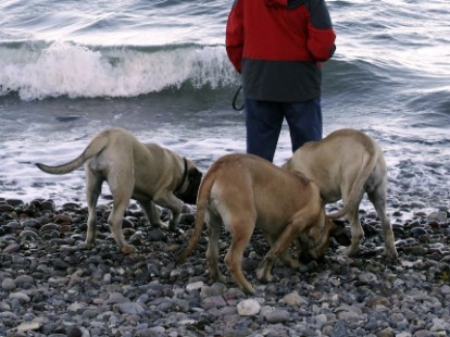
[{"label": "red and dark grey jacket on the standing person", "polygon": [[324,0],[236,0],[226,51],[246,98],[305,101],[321,96],[321,62],[336,35]]}]

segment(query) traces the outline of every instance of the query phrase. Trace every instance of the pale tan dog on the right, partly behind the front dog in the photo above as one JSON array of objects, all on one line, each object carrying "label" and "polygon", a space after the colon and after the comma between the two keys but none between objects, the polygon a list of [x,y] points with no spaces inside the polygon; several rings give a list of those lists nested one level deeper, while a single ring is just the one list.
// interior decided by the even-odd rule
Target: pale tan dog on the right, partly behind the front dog
[{"label": "pale tan dog on the right, partly behind the front dog", "polygon": [[347,214],[351,224],[350,255],[357,253],[364,237],[358,212],[367,192],[382,220],[385,254],[390,259],[397,257],[392,227],[386,215],[386,162],[372,137],[354,129],[336,130],[320,141],[303,145],[284,167],[311,178],[325,203],[342,199],[343,208],[327,216],[337,219]]}]

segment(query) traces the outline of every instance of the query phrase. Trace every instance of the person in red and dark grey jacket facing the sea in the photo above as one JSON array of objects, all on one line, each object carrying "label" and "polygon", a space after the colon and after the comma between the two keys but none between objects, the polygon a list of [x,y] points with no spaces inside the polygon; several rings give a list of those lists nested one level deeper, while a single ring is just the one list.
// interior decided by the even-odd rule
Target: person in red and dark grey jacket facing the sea
[{"label": "person in red and dark grey jacket facing the sea", "polygon": [[284,118],[292,152],[322,139],[322,62],[335,40],[324,0],[235,0],[225,46],[242,76],[248,153],[272,162]]}]

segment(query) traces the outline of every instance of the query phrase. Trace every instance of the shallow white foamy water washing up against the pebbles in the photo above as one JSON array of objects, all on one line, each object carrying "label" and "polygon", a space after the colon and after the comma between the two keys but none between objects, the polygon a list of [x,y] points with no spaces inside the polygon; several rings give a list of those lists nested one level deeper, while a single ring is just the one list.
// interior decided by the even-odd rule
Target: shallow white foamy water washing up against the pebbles
[{"label": "shallow white foamy water washing up against the pebbles", "polygon": [[[135,128],[133,132],[140,140],[160,143],[191,158],[203,172],[220,157],[245,151],[242,121],[237,120],[227,123],[226,126],[208,127],[190,124],[195,123],[195,120],[184,120],[183,124],[162,123],[154,125],[153,129],[146,126],[129,126]],[[325,121],[325,124],[326,134],[340,127],[333,124],[333,121]],[[10,136],[0,142],[0,196],[22,198],[25,201],[34,198],[52,198],[59,204],[75,200],[85,204],[83,168],[63,176],[54,176],[40,172],[34,163],[53,165],[73,159],[98,130],[98,121],[92,121],[70,129],[64,124],[52,124],[51,133],[37,127],[25,139],[18,139],[18,135]],[[377,139],[384,149],[388,163],[389,200],[397,200],[393,203],[405,205],[422,203],[426,210],[449,205],[450,172],[446,164],[446,159],[450,158],[448,135],[441,129],[434,129],[424,132],[424,137],[417,137],[413,130],[380,128],[379,125],[375,129],[367,126],[364,130]],[[275,164],[283,164],[290,154],[290,141],[285,126]],[[109,194],[108,185],[103,186],[103,194]],[[363,207],[373,211],[366,199]]]}]

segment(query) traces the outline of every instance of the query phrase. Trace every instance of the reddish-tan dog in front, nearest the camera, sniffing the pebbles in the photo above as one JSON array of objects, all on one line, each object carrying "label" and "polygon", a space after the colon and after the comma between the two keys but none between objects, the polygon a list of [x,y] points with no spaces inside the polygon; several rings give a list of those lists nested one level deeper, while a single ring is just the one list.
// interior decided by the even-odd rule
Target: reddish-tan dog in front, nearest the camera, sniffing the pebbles
[{"label": "reddish-tan dog in front, nearest the camera, sniffing the pebbles", "polygon": [[273,279],[272,267],[278,257],[288,266],[300,266],[289,254],[293,240],[300,240],[316,259],[328,248],[330,233],[341,229],[325,217],[313,183],[251,154],[227,154],[211,165],[200,185],[195,232],[178,263],[195,249],[204,223],[209,228],[210,277],[225,279],[217,263],[217,241],[225,225],[232,234],[225,263],[239,287],[249,294],[254,289],[242,274],[241,259],[254,227],[271,245],[257,271],[257,277],[264,282]]}]

